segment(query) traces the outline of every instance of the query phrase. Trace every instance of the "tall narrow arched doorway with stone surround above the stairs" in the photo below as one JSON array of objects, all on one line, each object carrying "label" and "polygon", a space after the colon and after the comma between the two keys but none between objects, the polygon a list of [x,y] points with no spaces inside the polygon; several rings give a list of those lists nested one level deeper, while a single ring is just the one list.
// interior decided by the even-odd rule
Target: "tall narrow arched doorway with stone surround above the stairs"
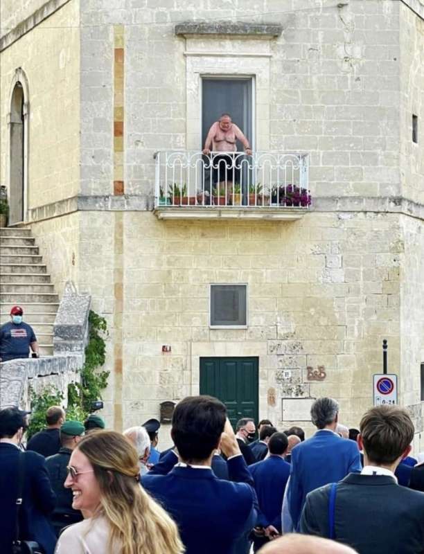
[{"label": "tall narrow arched doorway with stone surround above the stairs", "polygon": [[28,209],[28,79],[23,69],[15,70],[10,86],[8,114],[9,224],[26,220]]}]

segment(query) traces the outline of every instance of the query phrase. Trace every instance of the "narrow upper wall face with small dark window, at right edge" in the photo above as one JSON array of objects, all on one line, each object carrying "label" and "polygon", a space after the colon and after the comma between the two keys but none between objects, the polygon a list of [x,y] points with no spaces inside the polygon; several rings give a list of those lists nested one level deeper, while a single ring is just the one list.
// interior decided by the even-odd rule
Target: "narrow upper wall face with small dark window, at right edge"
[{"label": "narrow upper wall face with small dark window, at right edge", "polygon": [[[403,196],[424,202],[424,3],[423,17],[400,8],[400,179]],[[412,115],[418,143],[412,142]]]}]

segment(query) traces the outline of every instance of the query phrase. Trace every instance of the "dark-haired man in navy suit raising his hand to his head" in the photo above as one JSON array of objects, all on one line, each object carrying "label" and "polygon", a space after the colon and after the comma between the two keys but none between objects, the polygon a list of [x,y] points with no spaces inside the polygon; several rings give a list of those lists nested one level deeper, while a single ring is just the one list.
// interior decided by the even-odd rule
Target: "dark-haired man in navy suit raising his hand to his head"
[{"label": "dark-haired man in navy suit raising his hand to his head", "polygon": [[[256,524],[257,501],[224,404],[210,396],[185,398],[175,407],[171,436],[180,462],[167,475],[143,476],[143,487],[176,521],[186,554],[233,553]],[[218,447],[231,481],[211,470]]]}]

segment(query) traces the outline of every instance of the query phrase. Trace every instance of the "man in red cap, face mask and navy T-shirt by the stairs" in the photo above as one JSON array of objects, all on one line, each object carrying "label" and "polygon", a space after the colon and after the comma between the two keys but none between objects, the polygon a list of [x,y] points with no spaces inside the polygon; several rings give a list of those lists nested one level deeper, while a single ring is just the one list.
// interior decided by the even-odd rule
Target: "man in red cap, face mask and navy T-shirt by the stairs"
[{"label": "man in red cap, face mask and navy T-shirt by the stairs", "polygon": [[35,357],[39,355],[37,337],[33,328],[22,321],[23,314],[20,306],[13,306],[10,310],[12,321],[0,327],[0,361],[28,358],[30,348]]}]

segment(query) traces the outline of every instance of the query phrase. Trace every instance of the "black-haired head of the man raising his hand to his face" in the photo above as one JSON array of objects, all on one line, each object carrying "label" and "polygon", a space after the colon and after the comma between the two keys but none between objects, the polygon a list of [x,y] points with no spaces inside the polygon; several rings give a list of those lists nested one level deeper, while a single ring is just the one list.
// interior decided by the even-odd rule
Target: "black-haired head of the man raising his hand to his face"
[{"label": "black-haired head of the man raising his hand to his face", "polygon": [[175,406],[171,437],[183,461],[205,461],[218,448],[227,409],[212,396],[188,396]]}]

